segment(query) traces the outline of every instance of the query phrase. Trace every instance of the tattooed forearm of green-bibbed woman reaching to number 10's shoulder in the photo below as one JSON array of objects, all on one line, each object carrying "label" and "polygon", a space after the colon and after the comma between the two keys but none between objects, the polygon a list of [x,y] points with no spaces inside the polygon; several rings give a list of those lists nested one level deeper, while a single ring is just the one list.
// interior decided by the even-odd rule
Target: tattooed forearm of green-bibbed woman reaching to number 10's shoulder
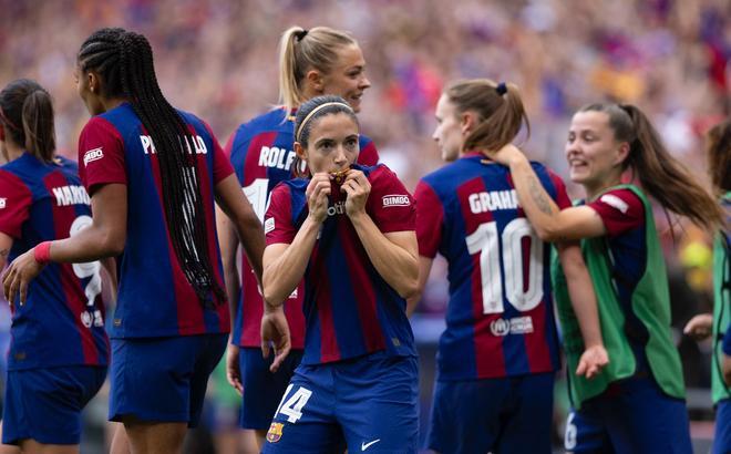
[{"label": "tattooed forearm of green-bibbed woman reaching to number 10's shoulder", "polygon": [[515,185],[521,207],[544,241],[560,239],[556,231],[558,227],[558,206],[550,198],[533,171],[531,162],[524,156],[511,161],[511,177]]}]

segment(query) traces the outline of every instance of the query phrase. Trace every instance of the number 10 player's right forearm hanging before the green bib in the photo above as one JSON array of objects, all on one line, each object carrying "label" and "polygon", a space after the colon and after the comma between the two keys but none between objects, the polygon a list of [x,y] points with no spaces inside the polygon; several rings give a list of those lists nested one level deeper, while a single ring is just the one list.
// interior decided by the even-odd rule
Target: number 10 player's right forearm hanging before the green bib
[{"label": "number 10 player's right forearm hanging before the green bib", "polygon": [[597,298],[580,248],[578,245],[567,246],[559,257],[584,345],[585,348],[603,345]]}]

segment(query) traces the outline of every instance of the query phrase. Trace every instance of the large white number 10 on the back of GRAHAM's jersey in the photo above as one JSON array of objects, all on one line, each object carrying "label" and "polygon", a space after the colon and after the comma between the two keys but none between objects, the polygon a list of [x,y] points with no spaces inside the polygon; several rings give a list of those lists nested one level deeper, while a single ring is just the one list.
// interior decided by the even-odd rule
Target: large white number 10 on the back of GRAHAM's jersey
[{"label": "large white number 10 on the back of GRAHAM's jersey", "polygon": [[[528,255],[528,288],[523,289],[523,238],[531,240]],[[543,241],[525,218],[507,223],[503,235],[493,220],[481,224],[465,238],[471,255],[480,252],[483,313],[503,313],[503,282],[500,272],[500,248],[503,249],[505,298],[519,311],[534,309],[543,299]]]}]

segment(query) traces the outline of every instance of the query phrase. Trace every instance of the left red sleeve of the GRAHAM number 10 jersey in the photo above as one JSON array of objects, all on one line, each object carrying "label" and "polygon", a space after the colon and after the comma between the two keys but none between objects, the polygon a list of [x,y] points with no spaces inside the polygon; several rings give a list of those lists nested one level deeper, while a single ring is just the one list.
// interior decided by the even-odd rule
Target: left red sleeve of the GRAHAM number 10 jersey
[{"label": "left red sleeve of the GRAHAM number 10 jersey", "polygon": [[434,189],[424,180],[419,182],[414,192],[416,200],[416,238],[419,255],[434,258],[442,241],[444,207]]}]

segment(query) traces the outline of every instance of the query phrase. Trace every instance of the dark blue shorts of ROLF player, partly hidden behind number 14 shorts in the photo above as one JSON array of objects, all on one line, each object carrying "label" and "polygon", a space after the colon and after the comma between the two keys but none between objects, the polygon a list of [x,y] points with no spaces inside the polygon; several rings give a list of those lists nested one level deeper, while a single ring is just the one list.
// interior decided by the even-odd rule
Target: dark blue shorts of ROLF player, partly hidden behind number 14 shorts
[{"label": "dark blue shorts of ROLF player, partly hidden behind number 14 shorts", "polygon": [[295,369],[302,360],[302,351],[291,350],[276,373],[269,372],[274,354],[265,359],[261,357],[261,349],[243,347],[238,358],[244,381],[239,426],[267,430]]}]

